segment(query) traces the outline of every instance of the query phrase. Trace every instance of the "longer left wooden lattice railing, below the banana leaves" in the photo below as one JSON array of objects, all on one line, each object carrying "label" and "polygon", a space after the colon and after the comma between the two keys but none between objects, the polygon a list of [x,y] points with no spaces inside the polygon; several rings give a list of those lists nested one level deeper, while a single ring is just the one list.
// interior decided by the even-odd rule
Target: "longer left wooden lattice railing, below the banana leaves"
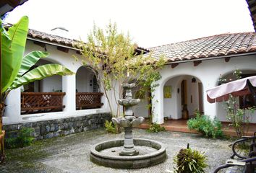
[{"label": "longer left wooden lattice railing, below the banana leaves", "polygon": [[62,111],[65,92],[22,92],[22,114],[32,112]]}]

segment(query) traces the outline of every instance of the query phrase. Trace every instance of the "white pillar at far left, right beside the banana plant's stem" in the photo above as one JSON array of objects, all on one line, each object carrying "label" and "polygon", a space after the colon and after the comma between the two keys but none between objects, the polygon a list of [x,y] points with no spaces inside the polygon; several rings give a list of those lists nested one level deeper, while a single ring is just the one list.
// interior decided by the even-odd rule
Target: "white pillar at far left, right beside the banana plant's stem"
[{"label": "white pillar at far left, right beside the banana plant's stem", "polygon": [[22,120],[20,116],[20,88],[9,92],[5,100],[4,123],[19,123]]}]

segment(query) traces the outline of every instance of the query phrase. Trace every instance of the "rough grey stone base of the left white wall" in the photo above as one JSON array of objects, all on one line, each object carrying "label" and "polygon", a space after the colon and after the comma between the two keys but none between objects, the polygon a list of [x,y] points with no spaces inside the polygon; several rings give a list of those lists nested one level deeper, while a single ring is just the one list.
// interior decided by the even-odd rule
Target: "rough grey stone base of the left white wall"
[{"label": "rough grey stone base of the left white wall", "polygon": [[31,123],[18,123],[4,125],[6,138],[16,137],[22,127],[33,128],[35,140],[43,138],[53,138],[56,136],[66,136],[82,131],[103,128],[106,120],[111,120],[110,114],[93,114],[80,117],[68,117],[57,120],[43,120]]}]

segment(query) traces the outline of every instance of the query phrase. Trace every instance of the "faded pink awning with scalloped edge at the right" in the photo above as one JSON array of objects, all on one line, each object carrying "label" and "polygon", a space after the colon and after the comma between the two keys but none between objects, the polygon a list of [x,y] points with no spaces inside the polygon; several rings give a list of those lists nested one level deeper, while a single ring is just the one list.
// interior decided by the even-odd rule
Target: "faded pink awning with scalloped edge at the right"
[{"label": "faded pink awning with scalloped edge at the right", "polygon": [[229,99],[229,94],[232,96],[243,96],[249,94],[249,89],[247,86],[247,80],[256,87],[256,76],[250,76],[244,79],[239,79],[236,81],[231,81],[220,86],[216,86],[212,89],[208,89],[207,100],[210,103],[227,101]]}]

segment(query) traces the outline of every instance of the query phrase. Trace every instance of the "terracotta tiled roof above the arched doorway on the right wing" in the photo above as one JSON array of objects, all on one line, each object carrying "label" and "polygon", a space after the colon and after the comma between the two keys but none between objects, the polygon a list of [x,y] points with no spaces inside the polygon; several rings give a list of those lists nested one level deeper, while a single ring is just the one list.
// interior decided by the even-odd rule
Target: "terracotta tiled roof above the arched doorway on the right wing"
[{"label": "terracotta tiled roof above the arched doorway on the right wing", "polygon": [[167,62],[195,61],[201,58],[256,53],[256,33],[244,32],[213,35],[180,43],[161,45],[150,48],[151,50],[154,58],[158,59],[163,55],[167,58]]}]

